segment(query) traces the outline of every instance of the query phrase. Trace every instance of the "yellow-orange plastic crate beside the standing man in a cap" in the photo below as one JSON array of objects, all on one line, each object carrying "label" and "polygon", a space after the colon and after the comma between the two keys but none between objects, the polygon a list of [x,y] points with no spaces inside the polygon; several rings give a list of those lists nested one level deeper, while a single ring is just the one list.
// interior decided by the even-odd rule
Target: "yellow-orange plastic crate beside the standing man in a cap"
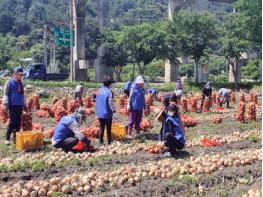
[{"label": "yellow-orange plastic crate beside the standing man in a cap", "polygon": [[40,131],[23,131],[16,133],[16,149],[32,151],[43,146],[44,136]]}]

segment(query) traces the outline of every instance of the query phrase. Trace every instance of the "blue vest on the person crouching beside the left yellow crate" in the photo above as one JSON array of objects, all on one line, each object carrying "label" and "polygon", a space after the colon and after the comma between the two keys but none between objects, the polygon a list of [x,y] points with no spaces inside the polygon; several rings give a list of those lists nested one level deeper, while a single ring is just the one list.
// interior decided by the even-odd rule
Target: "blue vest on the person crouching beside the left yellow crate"
[{"label": "blue vest on the person crouching beside the left yellow crate", "polygon": [[60,142],[69,137],[74,137],[74,132],[68,127],[77,118],[74,115],[68,115],[61,118],[57,126],[55,127],[53,139],[56,142]]}]

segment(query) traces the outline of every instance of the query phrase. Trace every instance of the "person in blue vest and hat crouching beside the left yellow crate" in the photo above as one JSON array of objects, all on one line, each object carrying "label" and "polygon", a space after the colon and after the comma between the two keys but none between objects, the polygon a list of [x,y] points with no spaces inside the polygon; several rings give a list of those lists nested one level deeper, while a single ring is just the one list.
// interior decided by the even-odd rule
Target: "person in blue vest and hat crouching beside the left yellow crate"
[{"label": "person in blue vest and hat crouching beside the left yellow crate", "polygon": [[82,108],[77,109],[73,114],[62,117],[55,127],[52,145],[55,148],[62,148],[65,152],[72,151],[79,141],[88,146],[90,141],[80,130],[83,121],[85,121],[85,110]]}]

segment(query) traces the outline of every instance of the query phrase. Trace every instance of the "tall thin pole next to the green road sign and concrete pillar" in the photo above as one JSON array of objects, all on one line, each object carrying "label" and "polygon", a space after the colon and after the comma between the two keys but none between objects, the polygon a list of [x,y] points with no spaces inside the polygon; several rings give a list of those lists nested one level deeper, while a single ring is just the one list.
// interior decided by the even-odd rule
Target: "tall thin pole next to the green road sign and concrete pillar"
[{"label": "tall thin pole next to the green road sign and concrete pillar", "polygon": [[70,0],[70,81],[75,80],[73,63],[73,0]]}]

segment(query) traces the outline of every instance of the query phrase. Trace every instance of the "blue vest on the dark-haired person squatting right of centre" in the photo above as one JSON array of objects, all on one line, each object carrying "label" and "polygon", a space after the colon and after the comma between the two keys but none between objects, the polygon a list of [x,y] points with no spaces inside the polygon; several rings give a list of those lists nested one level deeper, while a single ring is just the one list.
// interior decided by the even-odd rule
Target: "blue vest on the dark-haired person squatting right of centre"
[{"label": "blue vest on the dark-haired person squatting right of centre", "polygon": [[176,139],[182,143],[185,144],[185,136],[184,136],[184,132],[182,130],[182,128],[180,127],[180,120],[179,117],[172,117],[172,116],[168,116],[166,115],[165,117],[165,123],[164,123],[164,127],[163,127],[163,137],[165,136],[166,133],[168,133],[168,126],[167,126],[167,122],[171,121],[173,126],[174,126],[174,130],[172,131],[174,137],[176,137]]}]

